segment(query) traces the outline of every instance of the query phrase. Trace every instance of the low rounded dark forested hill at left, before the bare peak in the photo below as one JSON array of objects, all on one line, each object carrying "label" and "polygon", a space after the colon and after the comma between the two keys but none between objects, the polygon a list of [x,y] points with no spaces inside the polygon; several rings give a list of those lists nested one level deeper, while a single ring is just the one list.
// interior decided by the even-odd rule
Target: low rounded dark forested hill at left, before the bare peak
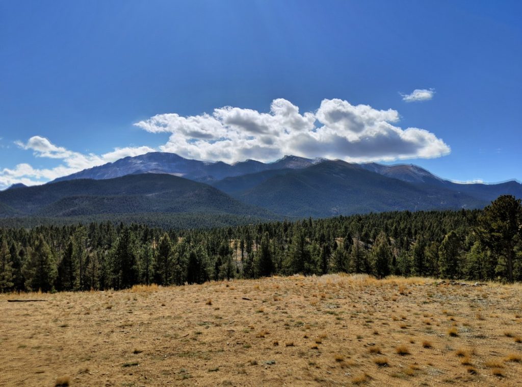
[{"label": "low rounded dark forested hill at left, before the bare peak", "polygon": [[[273,219],[210,185],[168,174],[127,175],[107,180],[70,180],[0,192],[0,218],[76,218],[129,214],[208,213]],[[160,215],[157,215],[160,216]]]}]

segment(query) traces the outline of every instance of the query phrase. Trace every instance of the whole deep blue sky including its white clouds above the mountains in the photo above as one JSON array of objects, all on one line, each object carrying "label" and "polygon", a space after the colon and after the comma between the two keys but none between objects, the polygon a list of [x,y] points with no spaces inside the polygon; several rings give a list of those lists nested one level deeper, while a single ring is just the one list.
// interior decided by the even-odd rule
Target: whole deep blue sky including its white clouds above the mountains
[{"label": "whole deep blue sky including its white clouds above the mountains", "polygon": [[0,189],[149,150],[522,181],[520,14],[518,1],[0,2]]}]

